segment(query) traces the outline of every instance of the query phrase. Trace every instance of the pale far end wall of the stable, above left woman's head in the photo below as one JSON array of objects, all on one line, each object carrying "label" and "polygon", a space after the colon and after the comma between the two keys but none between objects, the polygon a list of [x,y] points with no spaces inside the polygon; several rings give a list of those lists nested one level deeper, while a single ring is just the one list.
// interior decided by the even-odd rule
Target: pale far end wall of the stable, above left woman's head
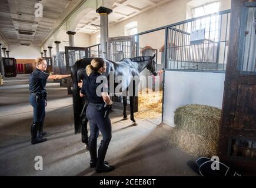
[{"label": "pale far end wall of the stable, above left woman's head", "polygon": [[15,59],[36,59],[41,57],[41,50],[37,46],[9,45],[9,56]]}]

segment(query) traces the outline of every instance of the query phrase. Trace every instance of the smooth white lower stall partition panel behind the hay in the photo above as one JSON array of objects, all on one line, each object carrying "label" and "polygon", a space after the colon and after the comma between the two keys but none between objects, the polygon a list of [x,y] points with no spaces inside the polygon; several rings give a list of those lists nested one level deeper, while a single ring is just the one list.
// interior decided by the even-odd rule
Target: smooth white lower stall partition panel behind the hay
[{"label": "smooth white lower stall partition panel behind the hay", "polygon": [[188,104],[222,107],[224,73],[165,71],[164,123],[174,126],[174,112]]}]

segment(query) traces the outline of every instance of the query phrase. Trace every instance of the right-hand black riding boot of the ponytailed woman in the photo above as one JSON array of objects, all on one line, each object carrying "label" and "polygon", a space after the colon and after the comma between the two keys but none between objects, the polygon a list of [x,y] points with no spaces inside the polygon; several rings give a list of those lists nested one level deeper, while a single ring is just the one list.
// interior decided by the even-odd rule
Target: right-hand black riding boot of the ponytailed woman
[{"label": "right-hand black riding boot of the ponytailed woman", "polygon": [[115,169],[114,166],[109,166],[104,162],[107,150],[108,150],[108,144],[109,141],[103,141],[101,140],[101,145],[99,146],[98,150],[98,160],[97,160],[97,166],[96,166],[96,172],[102,173],[102,172],[111,172]]}]

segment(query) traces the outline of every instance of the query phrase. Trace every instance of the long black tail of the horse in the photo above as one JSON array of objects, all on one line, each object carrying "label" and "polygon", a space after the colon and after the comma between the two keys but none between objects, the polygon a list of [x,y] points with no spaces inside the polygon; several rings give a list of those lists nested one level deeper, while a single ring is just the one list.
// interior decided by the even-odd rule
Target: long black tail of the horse
[{"label": "long black tail of the horse", "polygon": [[75,64],[71,68],[71,78],[73,81],[73,109],[74,109],[74,125],[75,125],[75,134],[81,132],[81,119],[80,113],[82,111],[82,98],[79,95],[80,89],[78,87],[78,76],[77,70],[80,65],[81,60],[75,62]]}]

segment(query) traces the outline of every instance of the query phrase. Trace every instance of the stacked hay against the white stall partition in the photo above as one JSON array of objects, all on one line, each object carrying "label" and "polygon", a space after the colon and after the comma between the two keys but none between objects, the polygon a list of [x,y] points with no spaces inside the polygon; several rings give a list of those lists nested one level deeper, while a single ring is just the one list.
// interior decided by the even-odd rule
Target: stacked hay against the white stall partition
[{"label": "stacked hay against the white stall partition", "polygon": [[206,105],[186,105],[175,110],[173,142],[195,156],[217,155],[221,110]]}]

